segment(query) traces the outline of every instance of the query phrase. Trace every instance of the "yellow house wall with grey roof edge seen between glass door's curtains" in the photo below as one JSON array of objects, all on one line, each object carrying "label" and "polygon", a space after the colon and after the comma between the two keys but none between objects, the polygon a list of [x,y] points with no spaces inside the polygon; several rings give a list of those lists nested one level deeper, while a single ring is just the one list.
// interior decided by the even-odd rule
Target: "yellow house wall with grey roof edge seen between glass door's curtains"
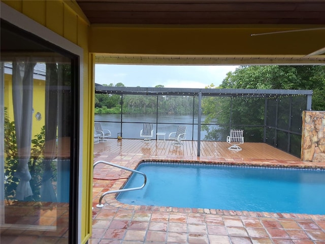
[{"label": "yellow house wall with grey roof edge seen between glass door's curtains", "polygon": [[[5,96],[4,105],[8,110],[8,116],[13,120],[12,106],[8,106],[12,102],[12,83],[9,82],[12,77],[12,64],[4,64],[5,73]],[[34,68],[34,96],[33,96],[33,121],[32,121],[32,136],[41,132],[41,128],[44,126],[44,90],[45,90],[45,64],[36,64]],[[11,108],[11,109],[10,109]],[[43,119],[42,119],[43,118]]]}]

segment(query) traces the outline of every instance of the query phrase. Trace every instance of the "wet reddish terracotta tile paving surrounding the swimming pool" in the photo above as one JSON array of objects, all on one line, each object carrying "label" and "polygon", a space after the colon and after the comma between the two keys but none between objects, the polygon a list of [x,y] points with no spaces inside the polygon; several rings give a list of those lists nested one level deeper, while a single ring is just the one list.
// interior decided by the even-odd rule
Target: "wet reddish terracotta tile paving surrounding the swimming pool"
[{"label": "wet reddish terracotta tile paving surrounding the swimming pool", "polygon": [[[105,143],[102,143],[105,144]],[[107,144],[110,147],[109,144]],[[150,155],[143,153],[110,154],[98,150],[94,162],[103,160],[136,168],[143,160],[188,161],[262,166],[324,167],[288,160],[245,160],[242,158]],[[114,194],[106,195],[104,207],[97,208],[103,192],[122,187],[129,172],[100,164],[93,179],[93,224],[89,243],[296,243],[325,244],[325,216],[230,211],[219,209],[138,206],[122,204]],[[320,193],[324,194],[325,193]],[[312,204],[312,203],[311,203]]]}]

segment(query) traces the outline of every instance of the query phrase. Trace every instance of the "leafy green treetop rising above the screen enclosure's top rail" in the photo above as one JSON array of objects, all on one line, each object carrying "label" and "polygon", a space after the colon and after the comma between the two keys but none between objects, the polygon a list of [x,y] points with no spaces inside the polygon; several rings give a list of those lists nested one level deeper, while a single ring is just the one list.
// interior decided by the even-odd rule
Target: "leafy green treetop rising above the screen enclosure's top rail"
[{"label": "leafy green treetop rising above the screen enclosure's top rail", "polygon": [[324,66],[241,66],[229,72],[220,88],[311,89],[313,110],[325,110]]}]

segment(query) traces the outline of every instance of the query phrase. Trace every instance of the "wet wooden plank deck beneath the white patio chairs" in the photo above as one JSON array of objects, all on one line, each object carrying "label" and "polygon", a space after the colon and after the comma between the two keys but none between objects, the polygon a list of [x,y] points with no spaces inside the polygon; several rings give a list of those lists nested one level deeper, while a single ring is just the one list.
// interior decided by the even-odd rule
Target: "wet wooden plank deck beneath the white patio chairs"
[{"label": "wet wooden plank deck beneath the white patio chairs", "polygon": [[241,151],[231,151],[227,142],[201,141],[201,154],[198,157],[197,141],[184,141],[182,146],[174,146],[172,142],[172,140],[143,142],[140,139],[108,139],[107,142],[94,144],[94,162],[118,159],[127,160],[133,165],[142,160],[158,160],[325,168],[324,162],[301,161],[300,158],[266,143],[245,142],[240,145]]}]

